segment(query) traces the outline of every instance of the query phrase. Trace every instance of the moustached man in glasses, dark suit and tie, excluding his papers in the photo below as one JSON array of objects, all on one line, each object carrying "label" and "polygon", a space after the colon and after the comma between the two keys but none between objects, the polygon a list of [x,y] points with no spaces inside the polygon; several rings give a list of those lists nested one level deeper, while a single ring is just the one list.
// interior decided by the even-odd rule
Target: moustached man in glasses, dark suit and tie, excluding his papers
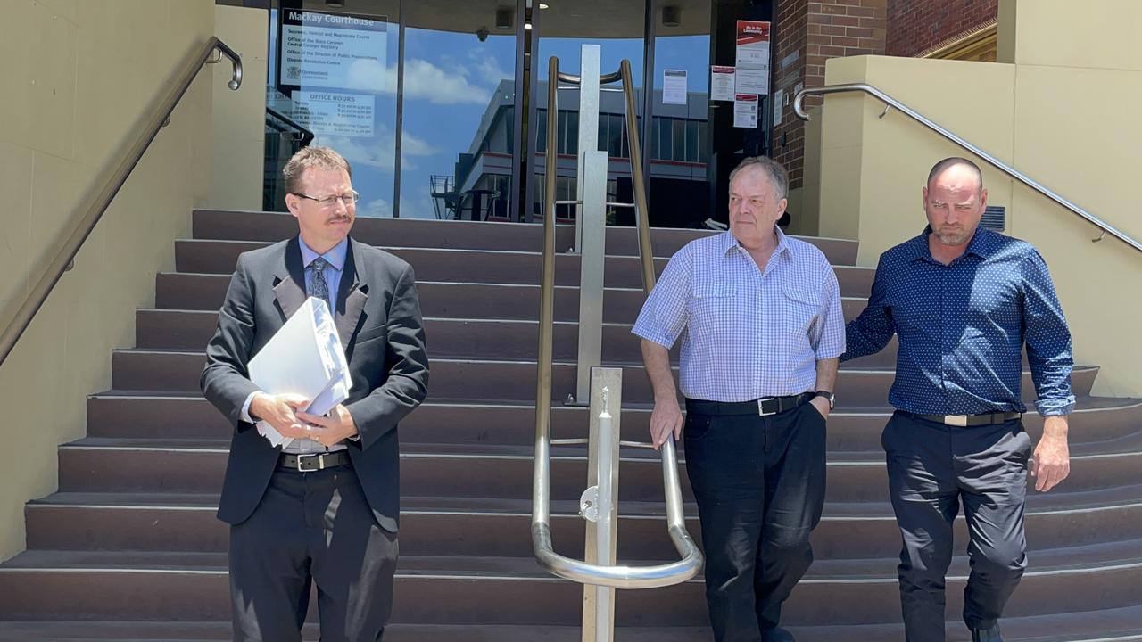
[{"label": "moustached man in glasses, dark suit and tie, excluding his papers", "polygon": [[[300,233],[239,257],[201,379],[235,427],[218,507],[231,524],[234,639],[300,641],[312,581],[322,640],[380,640],[397,553],[396,425],[428,384],[416,279],[349,238],[360,194],[339,154],[304,149],[283,174]],[[247,370],[307,296],[330,304],[352,375],[324,417],[258,390]],[[258,422],[292,441],[272,446]]]}]

